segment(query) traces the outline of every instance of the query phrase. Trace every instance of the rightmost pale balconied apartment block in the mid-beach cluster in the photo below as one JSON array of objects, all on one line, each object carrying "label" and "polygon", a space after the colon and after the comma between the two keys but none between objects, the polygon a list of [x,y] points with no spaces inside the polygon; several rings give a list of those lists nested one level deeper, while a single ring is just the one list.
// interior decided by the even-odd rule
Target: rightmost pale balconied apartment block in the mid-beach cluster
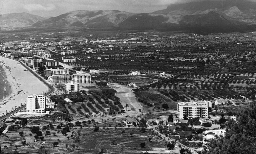
[{"label": "rightmost pale balconied apartment block in the mid-beach cluster", "polygon": [[76,71],[76,73],[71,76],[71,79],[72,81],[74,81],[74,83],[80,83],[80,84],[92,83],[92,76],[82,71]]}]

